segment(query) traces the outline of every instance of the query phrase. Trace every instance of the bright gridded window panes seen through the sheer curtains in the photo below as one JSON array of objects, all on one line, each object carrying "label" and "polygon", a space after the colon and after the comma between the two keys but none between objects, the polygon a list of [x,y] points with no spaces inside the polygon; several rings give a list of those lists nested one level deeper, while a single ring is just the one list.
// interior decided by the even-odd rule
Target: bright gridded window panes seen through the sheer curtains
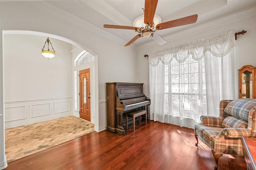
[{"label": "bright gridded window panes seen through the sheer curtains", "polygon": [[183,63],[173,59],[164,71],[165,115],[199,122],[207,111],[204,58],[196,61],[190,56]]}]

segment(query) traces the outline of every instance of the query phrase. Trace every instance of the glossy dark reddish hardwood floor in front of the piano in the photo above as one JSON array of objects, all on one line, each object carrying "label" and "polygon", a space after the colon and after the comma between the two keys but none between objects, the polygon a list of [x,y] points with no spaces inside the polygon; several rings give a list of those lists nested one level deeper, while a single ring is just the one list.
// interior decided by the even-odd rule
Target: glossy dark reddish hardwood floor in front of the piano
[{"label": "glossy dark reddish hardwood floor in front of the piano", "polygon": [[[5,170],[214,170],[211,150],[194,129],[142,121],[135,132],[92,132],[8,164]],[[218,170],[246,170],[243,156],[226,155]]]}]

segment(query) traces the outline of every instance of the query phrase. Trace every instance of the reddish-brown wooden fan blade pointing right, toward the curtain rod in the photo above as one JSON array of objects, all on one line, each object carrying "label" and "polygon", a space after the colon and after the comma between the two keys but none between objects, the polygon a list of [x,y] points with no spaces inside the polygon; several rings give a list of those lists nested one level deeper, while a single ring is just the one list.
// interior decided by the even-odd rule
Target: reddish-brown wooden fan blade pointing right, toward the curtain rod
[{"label": "reddish-brown wooden fan blade pointing right, toward the curtain rod", "polygon": [[160,30],[166,29],[166,28],[173,28],[173,27],[178,27],[178,26],[184,26],[187,24],[193,24],[196,22],[197,20],[197,14],[192,15],[192,16],[187,16],[184,18],[180,18],[177,20],[172,20],[172,21],[168,21],[168,22],[163,22],[160,24],[156,25],[156,29],[158,29],[158,27],[161,27]]}]

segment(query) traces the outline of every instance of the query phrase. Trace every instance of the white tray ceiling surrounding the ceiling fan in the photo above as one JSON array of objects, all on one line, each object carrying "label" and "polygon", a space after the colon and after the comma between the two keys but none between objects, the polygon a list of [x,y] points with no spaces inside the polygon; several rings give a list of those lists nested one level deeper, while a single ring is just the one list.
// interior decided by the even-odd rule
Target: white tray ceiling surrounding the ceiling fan
[{"label": "white tray ceiling surrounding the ceiling fan", "polygon": [[[103,28],[104,24],[132,26],[135,18],[142,15],[144,0],[28,0],[53,14],[93,30],[122,45],[138,33],[134,30]],[[256,0],[158,0],[156,14],[162,22],[198,14],[194,24],[159,30],[156,33],[167,42],[175,36],[193,34],[211,25],[226,22],[246,10],[256,9]],[[254,10],[254,12],[256,12]],[[131,47],[158,45],[150,37],[139,38]]]}]

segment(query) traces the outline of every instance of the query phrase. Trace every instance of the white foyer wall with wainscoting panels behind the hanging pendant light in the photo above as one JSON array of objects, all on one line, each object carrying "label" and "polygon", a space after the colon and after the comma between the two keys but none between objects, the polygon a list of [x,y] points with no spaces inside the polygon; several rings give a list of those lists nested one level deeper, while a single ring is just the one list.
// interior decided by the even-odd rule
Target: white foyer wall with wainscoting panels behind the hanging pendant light
[{"label": "white foyer wall with wainscoting panels behind the hanging pendant light", "polygon": [[6,128],[72,115],[72,45],[50,38],[56,55],[48,60],[46,38],[4,35]]}]

